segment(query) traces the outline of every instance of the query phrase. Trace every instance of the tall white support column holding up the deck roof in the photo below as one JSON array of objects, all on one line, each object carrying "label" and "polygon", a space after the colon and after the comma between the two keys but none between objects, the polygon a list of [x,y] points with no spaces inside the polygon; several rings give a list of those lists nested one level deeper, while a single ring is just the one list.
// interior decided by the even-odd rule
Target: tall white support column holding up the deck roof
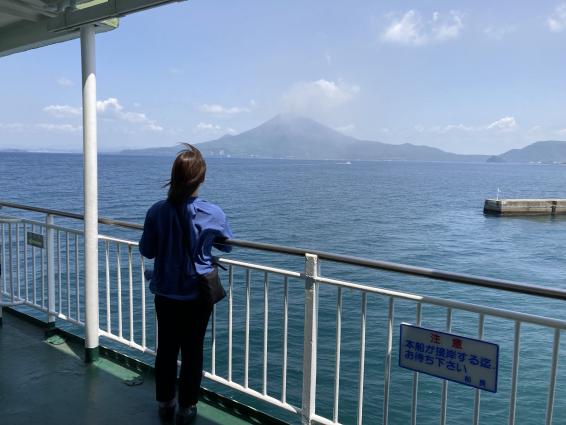
[{"label": "tall white support column holding up the deck roof", "polygon": [[98,180],[94,26],[81,27],[83,74],[85,361],[98,357]]}]

